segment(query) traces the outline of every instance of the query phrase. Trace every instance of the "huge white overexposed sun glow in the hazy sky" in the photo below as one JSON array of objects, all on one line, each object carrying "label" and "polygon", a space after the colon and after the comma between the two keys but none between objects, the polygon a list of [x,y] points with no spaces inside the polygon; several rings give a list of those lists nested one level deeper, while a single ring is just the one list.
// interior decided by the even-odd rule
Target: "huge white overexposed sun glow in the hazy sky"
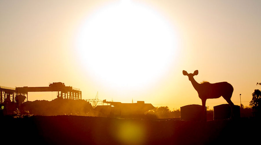
[{"label": "huge white overexposed sun glow in the hazy sky", "polygon": [[156,11],[131,1],[107,5],[84,21],[76,45],[86,71],[112,87],[148,86],[170,67],[176,36]]}]

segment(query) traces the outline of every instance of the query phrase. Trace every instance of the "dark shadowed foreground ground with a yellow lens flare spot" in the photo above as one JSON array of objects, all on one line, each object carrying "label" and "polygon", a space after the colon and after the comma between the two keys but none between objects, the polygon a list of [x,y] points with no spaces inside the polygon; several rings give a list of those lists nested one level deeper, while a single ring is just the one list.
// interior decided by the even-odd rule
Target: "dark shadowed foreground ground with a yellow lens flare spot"
[{"label": "dark shadowed foreground ground with a yellow lens flare spot", "polygon": [[190,122],[83,116],[1,117],[7,144],[260,144],[260,119]]}]

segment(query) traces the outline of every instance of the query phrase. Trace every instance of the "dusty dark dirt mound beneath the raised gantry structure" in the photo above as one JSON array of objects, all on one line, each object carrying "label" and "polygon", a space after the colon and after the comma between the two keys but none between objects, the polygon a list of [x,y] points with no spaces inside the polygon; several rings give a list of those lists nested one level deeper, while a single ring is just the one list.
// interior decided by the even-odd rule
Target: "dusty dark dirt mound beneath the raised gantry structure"
[{"label": "dusty dark dirt mound beneath the raised gantry structure", "polygon": [[93,113],[93,107],[84,100],[54,99],[52,101],[36,100],[27,101],[21,104],[22,111],[28,110],[34,115],[55,116],[55,115],[80,115],[90,116]]}]

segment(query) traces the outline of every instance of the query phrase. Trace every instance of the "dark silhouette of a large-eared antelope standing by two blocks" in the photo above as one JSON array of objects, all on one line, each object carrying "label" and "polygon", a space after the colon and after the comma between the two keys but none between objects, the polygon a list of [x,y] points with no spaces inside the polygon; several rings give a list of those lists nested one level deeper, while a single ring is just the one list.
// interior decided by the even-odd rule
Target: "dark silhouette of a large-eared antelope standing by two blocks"
[{"label": "dark silhouette of a large-eared antelope standing by two blocks", "polygon": [[[195,88],[195,90],[198,93],[198,97],[200,97],[202,101],[202,119],[205,120],[205,106],[206,106],[206,99],[214,99],[223,97],[226,102],[228,102],[230,108],[231,108],[231,117],[233,117],[234,112],[234,104],[231,101],[232,93],[233,93],[233,86],[229,84],[228,82],[219,82],[211,84],[207,81],[203,81],[201,84],[197,83],[193,76],[198,74],[198,70],[195,70],[194,73],[187,73],[185,70],[182,71],[183,75],[187,75],[189,77],[189,80],[191,81],[191,84]],[[203,117],[204,116],[204,117]]]}]

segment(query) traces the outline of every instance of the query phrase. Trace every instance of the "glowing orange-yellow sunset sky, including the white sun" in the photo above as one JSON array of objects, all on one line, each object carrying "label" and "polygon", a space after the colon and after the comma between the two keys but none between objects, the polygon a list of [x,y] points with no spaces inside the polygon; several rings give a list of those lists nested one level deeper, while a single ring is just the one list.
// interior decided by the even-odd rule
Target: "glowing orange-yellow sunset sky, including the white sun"
[{"label": "glowing orange-yellow sunset sky, including the white sun", "polygon": [[[261,82],[261,1],[0,1],[0,85],[80,88],[82,99],[200,104],[182,70],[227,81],[249,105]],[[53,93],[29,93],[49,100]],[[206,106],[226,101],[208,99]]]}]

